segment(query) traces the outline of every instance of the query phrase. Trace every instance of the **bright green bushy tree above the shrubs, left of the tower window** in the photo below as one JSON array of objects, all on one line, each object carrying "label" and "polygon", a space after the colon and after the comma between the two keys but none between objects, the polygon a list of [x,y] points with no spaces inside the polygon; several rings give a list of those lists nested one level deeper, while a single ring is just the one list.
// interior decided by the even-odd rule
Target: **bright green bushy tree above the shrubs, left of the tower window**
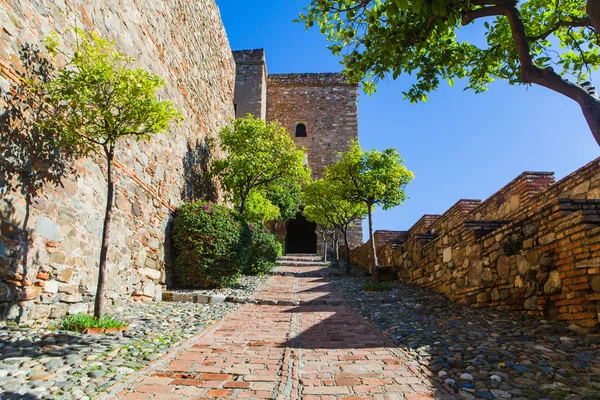
[{"label": "bright green bushy tree above the shrubs, left of the tower window", "polygon": [[248,114],[221,130],[219,145],[227,156],[213,161],[211,173],[240,215],[254,221],[296,215],[310,170],[285,128]]}]

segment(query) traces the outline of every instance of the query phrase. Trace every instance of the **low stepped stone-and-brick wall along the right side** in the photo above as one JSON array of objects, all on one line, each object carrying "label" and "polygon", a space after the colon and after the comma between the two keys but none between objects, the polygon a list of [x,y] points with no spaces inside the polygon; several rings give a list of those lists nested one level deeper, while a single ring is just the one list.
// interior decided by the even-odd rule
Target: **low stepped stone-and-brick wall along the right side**
[{"label": "low stepped stone-and-brick wall along the right side", "polygon": [[[600,158],[557,183],[525,172],[485,202],[426,217],[380,250],[400,280],[476,307],[599,325]],[[363,250],[351,254],[366,267]]]}]

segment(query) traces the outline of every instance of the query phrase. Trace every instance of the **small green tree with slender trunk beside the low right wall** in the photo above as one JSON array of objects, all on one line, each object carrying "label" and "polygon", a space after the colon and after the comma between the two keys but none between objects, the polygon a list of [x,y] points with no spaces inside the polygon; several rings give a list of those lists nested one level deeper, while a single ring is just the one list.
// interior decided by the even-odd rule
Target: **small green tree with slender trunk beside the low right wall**
[{"label": "small green tree with slender trunk beside the low right wall", "polygon": [[357,141],[352,141],[340,160],[325,169],[325,179],[339,185],[337,193],[367,209],[372,266],[377,280],[379,264],[373,238],[373,211],[377,206],[392,209],[406,199],[404,189],[414,175],[403,163],[395,149],[364,151]]}]

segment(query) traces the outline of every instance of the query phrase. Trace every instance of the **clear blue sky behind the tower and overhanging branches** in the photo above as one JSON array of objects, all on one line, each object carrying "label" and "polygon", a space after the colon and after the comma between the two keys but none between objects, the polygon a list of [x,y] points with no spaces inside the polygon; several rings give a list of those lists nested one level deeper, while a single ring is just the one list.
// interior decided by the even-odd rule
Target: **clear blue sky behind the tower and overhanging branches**
[{"label": "clear blue sky behind the tower and overhanging branches", "polygon": [[[308,1],[217,4],[232,49],[264,48],[270,73],[341,71],[318,29],[292,22]],[[479,43],[477,33],[465,35]],[[460,82],[442,83],[427,103],[410,104],[401,93],[410,82],[390,78],[372,97],[359,97],[363,147],[395,147],[415,173],[410,198],[377,211],[375,229],[406,230],[461,198],[487,198],[523,171],[554,171],[560,179],[600,156],[577,104],[548,89],[495,82],[476,95]]]}]

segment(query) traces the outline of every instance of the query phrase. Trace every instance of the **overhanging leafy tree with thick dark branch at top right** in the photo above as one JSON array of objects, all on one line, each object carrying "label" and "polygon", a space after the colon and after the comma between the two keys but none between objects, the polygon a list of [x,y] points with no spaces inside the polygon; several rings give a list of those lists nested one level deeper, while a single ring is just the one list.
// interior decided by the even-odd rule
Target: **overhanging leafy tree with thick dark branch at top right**
[{"label": "overhanging leafy tree with thick dark branch at top right", "polygon": [[[587,11],[584,0],[313,0],[300,18],[344,53],[348,78],[367,93],[388,74],[415,74],[403,92],[411,102],[441,80],[466,78],[476,93],[496,79],[536,84],[575,101],[600,144],[600,100],[584,82],[600,63],[600,0]],[[480,19],[484,45],[459,39]]]}]

